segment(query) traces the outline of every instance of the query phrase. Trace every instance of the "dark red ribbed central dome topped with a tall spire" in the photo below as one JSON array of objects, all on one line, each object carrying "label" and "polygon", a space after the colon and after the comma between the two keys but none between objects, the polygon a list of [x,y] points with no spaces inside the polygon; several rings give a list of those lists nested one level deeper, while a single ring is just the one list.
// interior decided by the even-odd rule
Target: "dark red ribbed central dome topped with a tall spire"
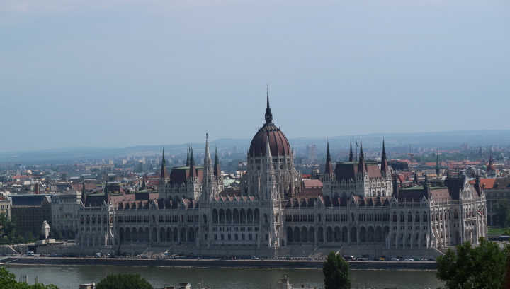
[{"label": "dark red ribbed central dome topped with a tall spire", "polygon": [[255,134],[249,149],[249,157],[265,157],[266,145],[269,139],[269,149],[272,156],[290,155],[290,144],[287,137],[273,124],[273,114],[269,108],[269,95],[267,97],[266,123]]}]

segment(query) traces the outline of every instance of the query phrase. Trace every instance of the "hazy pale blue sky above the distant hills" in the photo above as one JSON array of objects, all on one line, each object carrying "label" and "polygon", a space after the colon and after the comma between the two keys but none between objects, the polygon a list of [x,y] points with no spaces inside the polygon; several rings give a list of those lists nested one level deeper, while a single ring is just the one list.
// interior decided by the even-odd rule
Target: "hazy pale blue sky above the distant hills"
[{"label": "hazy pale blue sky above the distant hills", "polygon": [[509,128],[510,1],[2,0],[0,152]]}]

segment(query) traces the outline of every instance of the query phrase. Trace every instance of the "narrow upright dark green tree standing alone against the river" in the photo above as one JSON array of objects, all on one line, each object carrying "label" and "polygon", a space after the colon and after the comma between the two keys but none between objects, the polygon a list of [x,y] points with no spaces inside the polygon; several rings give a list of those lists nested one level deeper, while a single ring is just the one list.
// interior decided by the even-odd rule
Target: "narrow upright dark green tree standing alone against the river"
[{"label": "narrow upright dark green tree standing alone against the river", "polygon": [[347,261],[334,251],[329,252],[324,266],[324,288],[325,289],[350,289],[351,278],[349,278],[349,266]]}]

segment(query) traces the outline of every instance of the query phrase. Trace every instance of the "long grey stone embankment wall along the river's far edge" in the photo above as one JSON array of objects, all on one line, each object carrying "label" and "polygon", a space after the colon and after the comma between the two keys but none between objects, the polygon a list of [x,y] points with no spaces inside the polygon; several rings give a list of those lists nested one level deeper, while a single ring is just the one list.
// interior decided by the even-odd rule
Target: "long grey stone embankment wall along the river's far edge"
[{"label": "long grey stone embankment wall along the river's far edge", "polygon": [[[216,260],[216,259],[133,259],[9,257],[4,263],[54,266],[140,266],[188,268],[322,268],[317,260]],[[349,261],[354,270],[436,270],[432,261]]]}]

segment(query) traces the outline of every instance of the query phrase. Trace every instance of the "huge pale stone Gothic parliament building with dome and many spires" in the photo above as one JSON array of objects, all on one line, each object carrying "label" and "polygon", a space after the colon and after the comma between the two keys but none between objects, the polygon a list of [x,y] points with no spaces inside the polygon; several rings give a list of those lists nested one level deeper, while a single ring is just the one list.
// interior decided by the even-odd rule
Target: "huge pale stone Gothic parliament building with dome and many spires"
[{"label": "huge pale stone Gothic parliament building with dome and many spires", "polygon": [[[163,152],[164,154],[164,152]],[[158,191],[83,193],[77,248],[128,254],[322,257],[433,257],[487,234],[485,193],[477,177],[446,177],[441,186],[400,188],[387,164],[331,162],[329,144],[322,196],[298,198],[302,176],[293,149],[273,123],[256,132],[238,190],[223,186],[220,164],[205,137],[203,166],[188,150],[186,166],[169,172],[163,157]]]}]

